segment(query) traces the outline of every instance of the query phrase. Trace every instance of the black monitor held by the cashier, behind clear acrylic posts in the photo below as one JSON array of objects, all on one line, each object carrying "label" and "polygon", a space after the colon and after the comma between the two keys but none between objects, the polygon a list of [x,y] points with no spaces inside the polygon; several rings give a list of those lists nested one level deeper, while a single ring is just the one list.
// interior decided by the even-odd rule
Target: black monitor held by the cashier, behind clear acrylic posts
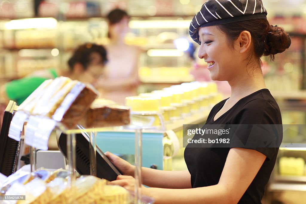
[{"label": "black monitor held by the cashier, behind clear acrylic posts", "polygon": [[[89,160],[89,137],[87,135],[76,134],[76,170],[81,175],[90,174]],[[58,148],[67,159],[67,135],[61,134],[58,138]],[[116,180],[121,173],[105,156],[105,154],[96,146],[96,169],[97,177],[109,181]]]}]

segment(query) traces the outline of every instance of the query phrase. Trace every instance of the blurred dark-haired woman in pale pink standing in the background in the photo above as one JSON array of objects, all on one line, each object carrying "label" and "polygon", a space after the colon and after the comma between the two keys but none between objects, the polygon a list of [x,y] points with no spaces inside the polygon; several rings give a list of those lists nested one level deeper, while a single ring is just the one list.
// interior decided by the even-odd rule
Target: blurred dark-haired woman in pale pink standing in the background
[{"label": "blurred dark-haired woman in pale pink standing in the background", "polygon": [[119,104],[125,97],[137,95],[138,57],[141,49],[127,45],[124,37],[129,31],[129,16],[121,9],[114,9],[107,15],[109,43],[106,45],[108,63],[105,75],[97,83],[103,98]]}]

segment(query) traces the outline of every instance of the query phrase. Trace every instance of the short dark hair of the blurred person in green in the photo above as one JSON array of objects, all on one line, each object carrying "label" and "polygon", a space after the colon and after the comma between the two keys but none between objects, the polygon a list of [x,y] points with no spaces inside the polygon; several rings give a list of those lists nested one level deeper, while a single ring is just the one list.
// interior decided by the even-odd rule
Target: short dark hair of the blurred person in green
[{"label": "short dark hair of the blurred person in green", "polygon": [[83,65],[84,69],[87,69],[88,65],[91,63],[90,55],[92,53],[98,53],[103,64],[107,62],[106,50],[102,45],[97,45],[95,43],[85,43],[80,45],[73,53],[72,57],[68,60],[69,69],[73,70],[73,66],[79,62]]}]

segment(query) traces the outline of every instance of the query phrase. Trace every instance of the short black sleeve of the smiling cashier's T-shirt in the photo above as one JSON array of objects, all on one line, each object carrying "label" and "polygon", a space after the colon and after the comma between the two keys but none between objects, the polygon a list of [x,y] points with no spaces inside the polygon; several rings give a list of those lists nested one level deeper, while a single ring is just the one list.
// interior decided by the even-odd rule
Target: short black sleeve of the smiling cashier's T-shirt
[{"label": "short black sleeve of the smiling cashier's T-shirt", "polygon": [[282,142],[282,124],[279,109],[262,98],[248,102],[232,119],[230,148],[257,150],[273,158]]}]

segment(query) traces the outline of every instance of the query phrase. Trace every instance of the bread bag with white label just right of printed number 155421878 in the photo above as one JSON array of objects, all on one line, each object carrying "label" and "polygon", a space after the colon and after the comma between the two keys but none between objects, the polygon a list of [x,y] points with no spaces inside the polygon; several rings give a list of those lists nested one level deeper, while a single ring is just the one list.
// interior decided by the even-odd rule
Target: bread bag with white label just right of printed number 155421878
[{"label": "bread bag with white label just right of printed number 155421878", "polygon": [[35,178],[24,185],[26,189],[26,200],[18,200],[17,204],[44,204],[49,202],[52,197],[51,191],[47,188],[46,183]]}]

